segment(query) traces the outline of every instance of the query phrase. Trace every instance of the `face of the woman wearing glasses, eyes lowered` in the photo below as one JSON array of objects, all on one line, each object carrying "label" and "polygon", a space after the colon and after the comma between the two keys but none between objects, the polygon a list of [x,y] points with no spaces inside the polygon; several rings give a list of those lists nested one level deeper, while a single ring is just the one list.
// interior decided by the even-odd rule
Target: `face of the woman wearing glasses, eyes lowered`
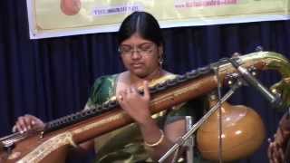
[{"label": "face of the woman wearing glasses, eyes lowered", "polygon": [[132,34],[120,44],[121,59],[126,69],[139,78],[159,71],[162,46]]}]

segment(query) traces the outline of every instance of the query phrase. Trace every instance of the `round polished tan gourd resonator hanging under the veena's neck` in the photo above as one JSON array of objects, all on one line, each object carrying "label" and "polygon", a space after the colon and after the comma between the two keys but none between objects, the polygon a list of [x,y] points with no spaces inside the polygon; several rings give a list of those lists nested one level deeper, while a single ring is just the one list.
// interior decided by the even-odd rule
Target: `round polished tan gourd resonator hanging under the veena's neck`
[{"label": "round polished tan gourd resonator hanging under the veena's neck", "polygon": [[[247,158],[258,149],[265,137],[265,125],[255,110],[243,105],[221,106],[221,157],[223,161]],[[218,110],[198,129],[198,149],[203,158],[219,159]]]}]

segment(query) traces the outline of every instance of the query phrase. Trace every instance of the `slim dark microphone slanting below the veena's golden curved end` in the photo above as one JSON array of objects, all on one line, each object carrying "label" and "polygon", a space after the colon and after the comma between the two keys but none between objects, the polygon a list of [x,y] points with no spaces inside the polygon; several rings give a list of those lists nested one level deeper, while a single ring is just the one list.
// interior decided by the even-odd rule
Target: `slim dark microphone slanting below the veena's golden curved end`
[{"label": "slim dark microphone slanting below the veena's golden curved end", "polygon": [[234,59],[227,59],[227,61],[230,62],[237,69],[237,72],[241,74],[242,78],[249,85],[251,85],[257,91],[259,91],[266,98],[266,100],[270,102],[272,107],[276,109],[279,109],[282,107],[283,103],[281,99],[279,98],[279,96],[274,95],[270,91],[268,91],[262,83],[258,82],[256,78],[250,72],[247,71],[246,68],[239,65],[239,63],[237,63]]}]

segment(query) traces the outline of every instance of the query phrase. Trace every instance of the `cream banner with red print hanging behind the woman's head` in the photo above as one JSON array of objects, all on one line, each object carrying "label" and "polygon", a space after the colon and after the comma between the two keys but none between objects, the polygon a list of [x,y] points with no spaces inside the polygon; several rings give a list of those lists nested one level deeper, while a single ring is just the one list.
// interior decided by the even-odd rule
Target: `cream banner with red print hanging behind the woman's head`
[{"label": "cream banner with red print hanging behind the woman's head", "polygon": [[289,18],[290,0],[26,0],[31,39],[115,32],[134,11],[162,28]]}]

